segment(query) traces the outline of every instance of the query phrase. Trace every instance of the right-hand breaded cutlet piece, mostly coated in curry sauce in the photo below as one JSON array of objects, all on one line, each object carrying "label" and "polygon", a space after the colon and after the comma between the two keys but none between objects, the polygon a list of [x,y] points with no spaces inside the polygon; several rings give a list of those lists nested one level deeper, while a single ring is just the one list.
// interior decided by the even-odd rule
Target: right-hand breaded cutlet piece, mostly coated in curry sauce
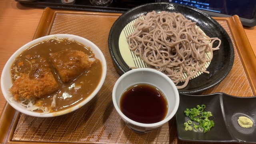
[{"label": "right-hand breaded cutlet piece, mostly coated in curry sauce", "polygon": [[50,55],[50,60],[63,82],[76,79],[93,63],[88,55],[79,50],[62,50]]}]

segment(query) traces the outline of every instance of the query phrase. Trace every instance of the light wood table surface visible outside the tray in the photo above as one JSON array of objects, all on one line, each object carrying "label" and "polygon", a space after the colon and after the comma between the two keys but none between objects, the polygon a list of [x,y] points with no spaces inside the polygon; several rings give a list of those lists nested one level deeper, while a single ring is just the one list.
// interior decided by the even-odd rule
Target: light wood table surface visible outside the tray
[{"label": "light wood table surface visible outside the tray", "polygon": [[[21,6],[14,0],[0,0],[0,73],[10,56],[30,42],[44,9]],[[256,27],[244,28],[256,54]],[[0,92],[0,114],[6,100]]]}]

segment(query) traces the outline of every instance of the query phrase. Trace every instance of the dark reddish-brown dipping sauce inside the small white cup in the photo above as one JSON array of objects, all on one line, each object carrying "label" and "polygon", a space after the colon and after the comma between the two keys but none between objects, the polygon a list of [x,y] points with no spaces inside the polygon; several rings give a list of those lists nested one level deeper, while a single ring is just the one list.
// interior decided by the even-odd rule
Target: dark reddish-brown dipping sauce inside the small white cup
[{"label": "dark reddish-brown dipping sauce inside the small white cup", "polygon": [[158,88],[149,84],[136,84],[122,94],[120,110],[131,120],[152,124],[164,120],[168,103]]}]

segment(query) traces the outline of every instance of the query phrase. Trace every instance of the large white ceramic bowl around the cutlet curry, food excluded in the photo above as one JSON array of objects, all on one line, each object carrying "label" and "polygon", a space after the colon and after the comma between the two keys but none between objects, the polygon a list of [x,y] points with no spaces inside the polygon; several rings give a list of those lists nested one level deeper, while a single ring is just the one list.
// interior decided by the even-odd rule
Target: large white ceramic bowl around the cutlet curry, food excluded
[{"label": "large white ceramic bowl around the cutlet curry, food excluded", "polygon": [[[96,89],[92,92],[92,94],[90,96],[88,96],[88,98],[82,100],[81,102],[79,102],[78,104],[66,109],[66,110],[62,110],[62,111],[58,111],[58,112],[52,112],[52,113],[48,113],[48,114],[42,114],[39,112],[33,112],[30,110],[26,110],[26,108],[22,105],[20,105],[18,102],[16,102],[15,100],[10,100],[10,98],[12,95],[9,92],[9,88],[12,86],[12,79],[11,79],[11,74],[10,74],[10,68],[14,62],[14,59],[26,48],[28,48],[29,46],[32,46],[34,44],[37,44],[38,42],[41,42],[43,40],[48,40],[50,38],[53,37],[57,37],[57,38],[73,38],[74,40],[76,40],[77,42],[80,42],[82,44],[84,44],[85,46],[88,46],[91,48],[91,50],[94,52],[95,57],[98,58],[101,63],[102,63],[102,76],[100,79],[100,82],[98,84],[98,86],[96,87]],[[53,116],[60,116],[63,114],[67,114],[69,112],[72,112],[74,110],[77,110],[78,108],[81,108],[82,106],[84,106],[86,103],[88,103],[92,98],[94,98],[94,96],[98,93],[98,91],[100,90],[100,88],[102,87],[104,80],[106,78],[106,71],[107,71],[107,64],[106,64],[106,60],[104,58],[104,55],[102,54],[101,50],[92,42],[90,42],[89,40],[82,38],[80,36],[75,36],[75,35],[71,35],[71,34],[55,34],[55,35],[48,35],[48,36],[44,36],[35,40],[32,40],[31,42],[28,42],[27,44],[25,44],[24,46],[22,46],[21,48],[19,48],[10,58],[9,60],[6,62],[4,69],[2,71],[2,75],[1,75],[1,89],[2,89],[2,93],[4,95],[4,98],[6,99],[6,101],[16,110],[30,115],[30,116],[36,116],[36,117],[53,117]]]}]

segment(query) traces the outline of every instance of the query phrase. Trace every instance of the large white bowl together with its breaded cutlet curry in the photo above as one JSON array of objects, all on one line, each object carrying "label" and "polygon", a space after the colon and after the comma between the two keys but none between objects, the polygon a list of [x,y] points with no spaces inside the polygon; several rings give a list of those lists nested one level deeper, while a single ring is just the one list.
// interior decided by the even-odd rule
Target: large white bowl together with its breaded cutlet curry
[{"label": "large white bowl together with its breaded cutlet curry", "polygon": [[106,60],[100,48],[80,36],[55,34],[28,42],[9,58],[1,89],[19,112],[53,117],[84,106],[105,78]]}]

